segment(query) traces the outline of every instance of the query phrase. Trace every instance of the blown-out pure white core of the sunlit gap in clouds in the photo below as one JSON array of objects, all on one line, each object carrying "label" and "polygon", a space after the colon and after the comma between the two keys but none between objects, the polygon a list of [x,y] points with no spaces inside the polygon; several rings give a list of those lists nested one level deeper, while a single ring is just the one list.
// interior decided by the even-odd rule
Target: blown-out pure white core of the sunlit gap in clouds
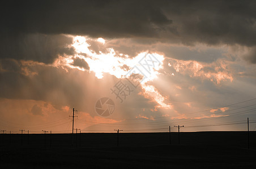
[{"label": "blown-out pure white core of the sunlit gap in clouds", "polygon": [[[97,42],[99,43],[103,43],[103,41],[103,38],[97,39]],[[117,78],[122,78],[129,72],[129,70],[123,69],[123,66],[128,66],[129,68],[137,66],[140,70],[144,69],[142,65],[138,63],[139,60],[147,54],[147,52],[142,52],[131,59],[123,55],[117,56],[113,48],[108,48],[108,52],[106,53],[100,51],[100,54],[96,54],[96,52],[89,50],[90,45],[87,43],[87,37],[80,36],[74,37],[74,43],[72,46],[78,53],[75,57],[84,59],[89,64],[90,70],[95,72],[96,77],[99,79],[103,78],[103,73],[109,73],[115,75]],[[85,57],[84,54],[87,56]],[[150,73],[147,73],[146,70],[144,70],[145,74],[147,73],[147,78],[143,83],[157,78],[157,74],[159,74],[157,70],[163,68],[164,56],[159,54],[153,55],[161,62],[161,64],[156,65],[154,70]]]}]

